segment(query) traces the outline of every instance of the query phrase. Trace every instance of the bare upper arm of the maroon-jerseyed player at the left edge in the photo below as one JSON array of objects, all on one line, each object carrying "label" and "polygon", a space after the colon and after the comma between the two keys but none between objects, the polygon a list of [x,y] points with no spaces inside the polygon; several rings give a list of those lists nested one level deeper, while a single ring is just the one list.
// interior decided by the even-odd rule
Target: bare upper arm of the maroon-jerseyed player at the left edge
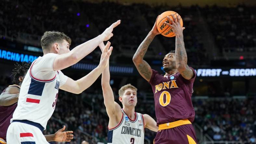
[{"label": "bare upper arm of the maroon-jerseyed player at the left edge", "polygon": [[19,88],[17,87],[8,87],[5,92],[0,95],[0,106],[9,106],[16,102],[19,99]]}]

